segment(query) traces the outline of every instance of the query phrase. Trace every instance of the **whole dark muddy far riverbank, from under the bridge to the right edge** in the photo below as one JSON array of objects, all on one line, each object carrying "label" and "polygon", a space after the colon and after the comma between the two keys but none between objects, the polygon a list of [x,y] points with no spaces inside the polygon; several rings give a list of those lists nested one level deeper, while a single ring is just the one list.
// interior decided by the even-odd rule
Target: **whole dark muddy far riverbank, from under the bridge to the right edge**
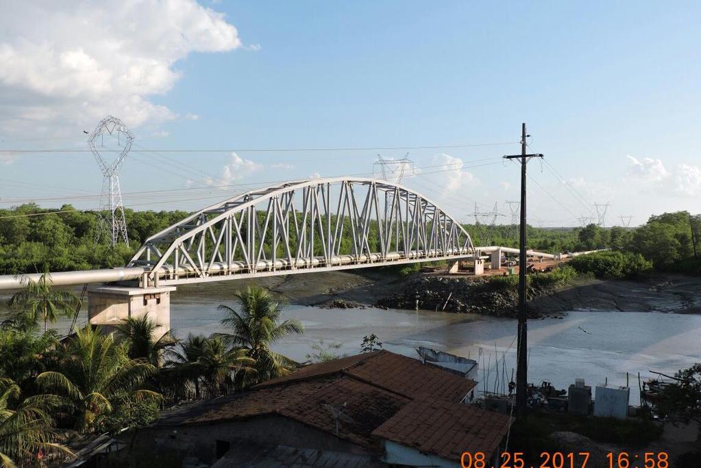
[{"label": "whole dark muddy far riverbank, from under the bridge to the right edge", "polygon": [[[402,276],[391,269],[334,271],[265,278],[257,283],[275,292],[289,304],[327,307],[379,306],[497,317],[515,314],[515,290],[490,284],[488,278],[414,274]],[[179,288],[190,297],[217,297],[226,301],[246,285],[232,283],[187,285]],[[573,310],[626,312],[660,311],[701,313],[701,278],[683,275],[653,275],[637,281],[601,281],[575,278],[567,285],[531,288],[529,310],[533,317],[560,315]]]}]

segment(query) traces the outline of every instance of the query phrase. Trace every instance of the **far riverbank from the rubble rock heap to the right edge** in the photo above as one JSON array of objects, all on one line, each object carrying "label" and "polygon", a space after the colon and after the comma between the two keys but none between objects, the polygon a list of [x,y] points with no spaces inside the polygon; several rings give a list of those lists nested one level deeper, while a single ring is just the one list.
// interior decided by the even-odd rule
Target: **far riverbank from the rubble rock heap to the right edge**
[{"label": "far riverbank from the rubble rock heap to the right edge", "polygon": [[[515,317],[517,290],[505,279],[417,275],[407,278],[399,291],[379,299],[377,304],[415,309],[418,299],[420,309]],[[697,277],[665,275],[637,281],[577,277],[564,284],[535,283],[529,286],[532,318],[573,310],[701,313],[701,278]]]}]

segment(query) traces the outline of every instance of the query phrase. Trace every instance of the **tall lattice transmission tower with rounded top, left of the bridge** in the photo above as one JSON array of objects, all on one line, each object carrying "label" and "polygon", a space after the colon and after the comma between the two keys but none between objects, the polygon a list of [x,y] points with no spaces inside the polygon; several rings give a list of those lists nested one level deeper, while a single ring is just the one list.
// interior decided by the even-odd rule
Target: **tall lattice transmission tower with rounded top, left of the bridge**
[{"label": "tall lattice transmission tower with rounded top, left of the bridge", "polygon": [[[107,148],[105,148],[105,137],[107,137]],[[131,149],[132,141],[134,136],[126,125],[111,115],[102,119],[88,136],[88,146],[102,171],[102,192],[100,193],[100,211],[97,213],[98,226],[95,241],[99,241],[102,235],[111,232],[112,246],[116,246],[120,237],[125,243],[129,243],[122,193],[119,187],[119,169]],[[110,147],[110,143],[112,145],[116,143],[116,148]],[[114,159],[106,158],[100,154],[100,151],[117,153],[117,156]],[[109,212],[109,219],[105,219],[105,212]]]}]

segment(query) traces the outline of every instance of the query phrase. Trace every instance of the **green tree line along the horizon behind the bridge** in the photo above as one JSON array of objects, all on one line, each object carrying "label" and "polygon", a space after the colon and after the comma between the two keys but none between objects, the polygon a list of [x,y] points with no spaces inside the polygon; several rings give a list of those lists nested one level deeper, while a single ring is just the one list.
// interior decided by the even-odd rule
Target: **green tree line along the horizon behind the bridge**
[{"label": "green tree line along the horizon behind the bridge", "polygon": [[[125,210],[130,245],[112,247],[96,242],[98,213],[70,205],[59,209],[25,204],[0,210],[0,274],[36,273],[121,267],[138,246],[154,234],[189,213],[184,211]],[[263,213],[259,213],[260,216]],[[464,225],[475,246],[518,245],[515,225]],[[379,250],[370,226],[371,250]],[[550,253],[611,248],[642,255],[656,269],[676,269],[701,274],[697,255],[701,253],[701,219],[687,211],[653,215],[636,228],[602,228],[594,224],[576,228],[527,227],[529,248]],[[290,235],[294,236],[294,232]],[[291,239],[294,242],[294,239]],[[351,236],[343,232],[341,246],[349,248]],[[320,255],[321,246],[317,254]]]}]

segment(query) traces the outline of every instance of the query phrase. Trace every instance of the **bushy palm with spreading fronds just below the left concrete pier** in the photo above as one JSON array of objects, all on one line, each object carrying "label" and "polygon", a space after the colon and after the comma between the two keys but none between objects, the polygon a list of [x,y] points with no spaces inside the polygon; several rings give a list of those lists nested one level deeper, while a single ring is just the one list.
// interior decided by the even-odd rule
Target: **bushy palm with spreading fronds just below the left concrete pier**
[{"label": "bushy palm with spreading fronds just below the left concrete pier", "polygon": [[143,359],[130,359],[124,347],[111,334],[103,335],[100,327],[88,325],[76,332],[67,343],[60,369],[39,374],[36,383],[72,411],[81,432],[93,430],[95,418],[110,413],[118,401],[161,398],[141,388],[156,374],[156,367]]}]

